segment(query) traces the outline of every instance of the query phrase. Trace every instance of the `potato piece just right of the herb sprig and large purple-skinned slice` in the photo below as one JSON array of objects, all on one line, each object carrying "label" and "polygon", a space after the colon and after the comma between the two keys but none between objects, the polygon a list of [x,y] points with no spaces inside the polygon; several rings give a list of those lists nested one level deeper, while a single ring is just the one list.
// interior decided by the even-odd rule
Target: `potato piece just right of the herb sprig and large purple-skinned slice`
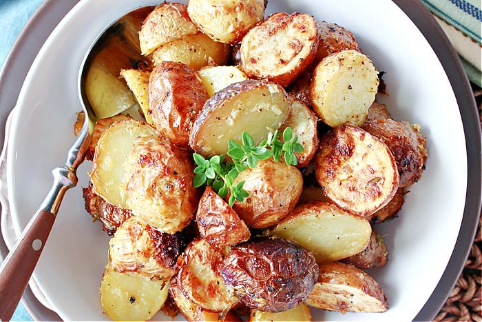
[{"label": "potato piece just right of the herb sprig and large purple-skinned slice", "polygon": [[280,128],[283,132],[290,127],[293,130],[293,137],[298,137],[297,143],[303,145],[303,152],[296,152],[298,160],[297,168],[303,168],[313,159],[318,149],[317,117],[313,111],[302,101],[291,98],[291,111],[286,121]]}]

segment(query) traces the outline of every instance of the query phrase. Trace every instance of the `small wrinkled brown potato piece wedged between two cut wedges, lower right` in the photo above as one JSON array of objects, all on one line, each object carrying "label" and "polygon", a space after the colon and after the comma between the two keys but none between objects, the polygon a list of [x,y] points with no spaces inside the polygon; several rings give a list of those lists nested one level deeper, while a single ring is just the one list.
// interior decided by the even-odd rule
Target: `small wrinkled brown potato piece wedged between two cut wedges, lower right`
[{"label": "small wrinkled brown potato piece wedged between two cut wedges, lower right", "polygon": [[381,268],[388,261],[388,250],[381,234],[377,230],[372,229],[370,241],[366,248],[358,254],[341,260],[343,263],[355,265],[357,268]]}]

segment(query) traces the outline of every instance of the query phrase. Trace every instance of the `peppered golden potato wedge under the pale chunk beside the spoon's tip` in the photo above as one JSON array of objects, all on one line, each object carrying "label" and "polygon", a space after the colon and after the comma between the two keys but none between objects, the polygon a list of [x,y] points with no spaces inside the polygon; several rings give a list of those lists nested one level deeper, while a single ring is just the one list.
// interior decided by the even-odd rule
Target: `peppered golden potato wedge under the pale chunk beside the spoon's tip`
[{"label": "peppered golden potato wedge under the pale chunk beside the spoon's tip", "polygon": [[206,34],[198,32],[159,46],[151,53],[151,59],[154,66],[163,61],[176,61],[198,69],[208,65],[224,65],[229,59],[229,54],[229,46],[213,41]]}]

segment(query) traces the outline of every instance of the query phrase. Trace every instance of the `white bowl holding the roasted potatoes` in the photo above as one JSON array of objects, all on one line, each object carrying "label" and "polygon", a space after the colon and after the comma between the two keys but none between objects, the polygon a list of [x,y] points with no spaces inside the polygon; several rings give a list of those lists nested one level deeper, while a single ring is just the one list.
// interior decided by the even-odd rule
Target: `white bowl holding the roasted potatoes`
[{"label": "white bowl holding the roasted potatoes", "polygon": [[[138,6],[159,1],[85,0],[59,23],[28,73],[12,120],[8,146],[8,200],[19,232],[50,188],[50,171],[72,143],[78,70],[97,34]],[[421,32],[394,3],[269,1],[268,12],[309,12],[351,30],[378,70],[388,96],[379,97],[395,119],[419,123],[428,137],[427,170],[406,196],[399,219],[379,225],[390,260],[370,270],[388,296],[383,314],[313,310],[314,320],[408,321],[426,303],[454,248],[465,203],[467,169],[463,126],[448,77]],[[83,208],[81,187],[91,163],[78,169],[34,272],[45,298],[64,320],[105,320],[98,299],[107,261],[107,235]],[[162,318],[162,316],[156,316]],[[165,318],[170,320],[169,317]]]}]

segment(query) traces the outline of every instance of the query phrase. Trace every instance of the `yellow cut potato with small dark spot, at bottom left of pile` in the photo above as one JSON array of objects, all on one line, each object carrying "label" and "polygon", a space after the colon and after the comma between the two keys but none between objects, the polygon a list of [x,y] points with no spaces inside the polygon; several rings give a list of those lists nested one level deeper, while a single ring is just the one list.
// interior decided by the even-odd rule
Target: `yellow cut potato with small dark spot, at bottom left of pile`
[{"label": "yellow cut potato with small dark spot, at bottom left of pile", "polygon": [[146,321],[163,306],[169,283],[117,272],[107,264],[101,282],[104,313],[114,321]]}]

